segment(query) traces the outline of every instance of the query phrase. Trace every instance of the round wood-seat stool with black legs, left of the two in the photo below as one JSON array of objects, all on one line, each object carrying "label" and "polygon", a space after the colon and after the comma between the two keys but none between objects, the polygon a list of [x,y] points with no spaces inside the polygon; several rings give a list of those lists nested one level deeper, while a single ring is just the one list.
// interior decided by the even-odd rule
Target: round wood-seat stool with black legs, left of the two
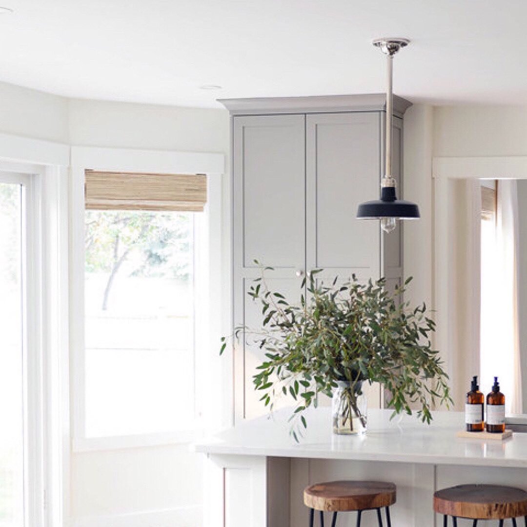
[{"label": "round wood-seat stool with black legs, left of the two", "polygon": [[390,522],[389,506],[396,500],[393,483],[381,481],[330,481],[317,483],[304,490],[304,503],[309,507],[309,527],[313,527],[315,510],[320,511],[320,527],[324,527],[324,511],[333,512],[331,527],[335,527],[338,512],[357,512],[357,527],[363,511],[377,511],[379,527],[383,527],[380,509],[386,511],[386,522]]}]

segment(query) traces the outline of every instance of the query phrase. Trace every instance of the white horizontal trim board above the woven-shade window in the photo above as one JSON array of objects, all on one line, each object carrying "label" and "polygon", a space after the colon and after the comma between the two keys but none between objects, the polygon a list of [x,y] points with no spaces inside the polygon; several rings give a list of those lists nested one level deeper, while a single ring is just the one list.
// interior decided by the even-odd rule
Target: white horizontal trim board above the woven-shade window
[{"label": "white horizontal trim board above the woven-shade window", "polygon": [[225,172],[225,154],[74,146],[71,148],[71,164],[82,170],[222,174]]}]

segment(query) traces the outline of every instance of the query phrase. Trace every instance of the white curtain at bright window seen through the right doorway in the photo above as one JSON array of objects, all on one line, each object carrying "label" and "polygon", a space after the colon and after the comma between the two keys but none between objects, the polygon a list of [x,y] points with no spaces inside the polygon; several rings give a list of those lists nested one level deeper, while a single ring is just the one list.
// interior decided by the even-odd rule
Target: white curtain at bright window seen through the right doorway
[{"label": "white curtain at bright window seen through the right doorway", "polygon": [[[492,222],[483,222],[493,229]],[[488,224],[488,225],[485,225]],[[494,250],[482,247],[481,388],[490,391],[499,377],[507,413],[522,413],[518,299],[518,188],[514,180],[500,180]],[[488,235],[488,232],[487,232]]]}]

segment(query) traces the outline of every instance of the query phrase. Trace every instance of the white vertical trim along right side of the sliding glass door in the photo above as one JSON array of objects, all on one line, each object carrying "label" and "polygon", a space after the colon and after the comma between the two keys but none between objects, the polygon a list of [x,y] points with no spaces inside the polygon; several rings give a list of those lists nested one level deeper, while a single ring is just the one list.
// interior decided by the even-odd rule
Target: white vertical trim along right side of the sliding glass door
[{"label": "white vertical trim along right side of the sliding glass door", "polygon": [[44,167],[39,176],[42,247],[42,357],[46,523],[69,514],[70,413],[67,275],[67,169]]}]

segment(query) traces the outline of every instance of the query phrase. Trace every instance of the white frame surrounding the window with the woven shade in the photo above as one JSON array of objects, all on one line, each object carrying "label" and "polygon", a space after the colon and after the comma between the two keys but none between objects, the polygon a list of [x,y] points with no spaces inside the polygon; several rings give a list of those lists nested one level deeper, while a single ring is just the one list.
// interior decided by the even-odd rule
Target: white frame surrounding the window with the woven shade
[{"label": "white frame surrounding the window with the woven shade", "polygon": [[[153,150],[110,149],[96,147],[72,147],[72,182],[70,193],[71,235],[70,235],[70,345],[72,359],[72,409],[73,409],[73,452],[111,450],[116,448],[153,446],[162,444],[187,443],[196,437],[197,430],[136,434],[111,437],[86,437],[85,433],[85,371],[84,371],[84,173],[85,170],[147,173],[184,173],[206,174],[208,176],[208,203],[204,213],[196,216],[196,222],[205,225],[199,231],[206,233],[205,240],[199,243],[199,260],[206,262],[201,269],[197,295],[199,305],[194,324],[197,327],[209,327],[215,315],[220,314],[220,299],[217,288],[209,284],[220,282],[221,244],[221,196],[222,174],[225,172],[225,155],[220,153],[170,152]],[[208,264],[208,265],[207,265]],[[214,309],[216,308],[216,309]],[[200,372],[195,383],[194,395],[196,415],[203,421],[208,418],[201,396],[206,397],[202,387],[212,375],[208,364],[211,354],[217,354],[219,335],[215,330],[208,334],[195,332],[196,372]],[[216,343],[216,347],[214,344]],[[195,376],[196,378],[196,376]],[[198,427],[199,427],[198,419]]]}]

